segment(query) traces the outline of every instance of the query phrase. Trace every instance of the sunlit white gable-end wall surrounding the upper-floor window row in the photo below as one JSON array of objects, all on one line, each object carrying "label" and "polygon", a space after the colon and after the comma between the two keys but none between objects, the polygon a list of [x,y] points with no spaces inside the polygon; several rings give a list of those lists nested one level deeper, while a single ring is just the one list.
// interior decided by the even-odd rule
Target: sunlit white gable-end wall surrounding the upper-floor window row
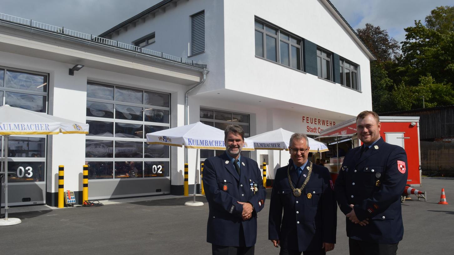
[{"label": "sunlit white gable-end wall surrounding the upper-floor window row", "polygon": [[[320,1],[224,3],[226,88],[352,116],[372,108],[369,59]],[[361,92],[256,58],[254,16],[358,64]]]}]

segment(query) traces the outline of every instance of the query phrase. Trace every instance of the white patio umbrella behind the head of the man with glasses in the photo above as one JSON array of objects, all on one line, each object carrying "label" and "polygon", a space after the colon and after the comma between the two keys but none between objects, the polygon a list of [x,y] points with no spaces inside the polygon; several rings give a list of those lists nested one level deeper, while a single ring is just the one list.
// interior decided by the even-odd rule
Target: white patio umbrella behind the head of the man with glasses
[{"label": "white patio umbrella behind the head of the man with glasses", "polygon": [[[288,151],[290,137],[295,132],[278,128],[276,130],[264,132],[252,137],[249,137],[254,141],[254,148],[256,150],[279,150],[279,165],[281,165],[281,151]],[[309,152],[326,152],[328,147],[323,142],[318,142],[311,137],[307,137],[309,140]]]}]

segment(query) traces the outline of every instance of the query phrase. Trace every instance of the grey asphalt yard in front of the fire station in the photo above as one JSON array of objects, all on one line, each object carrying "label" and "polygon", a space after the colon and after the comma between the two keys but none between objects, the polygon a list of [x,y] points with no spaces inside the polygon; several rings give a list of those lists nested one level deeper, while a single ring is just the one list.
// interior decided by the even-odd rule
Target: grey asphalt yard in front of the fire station
[{"label": "grey asphalt yard in front of the fire station", "polygon": [[[454,242],[454,180],[423,179],[427,201],[402,203],[404,239],[397,254],[450,255]],[[449,205],[439,205],[441,188]],[[267,190],[269,199],[271,190]],[[26,206],[10,209],[22,223],[0,226],[0,254],[211,254],[206,242],[208,205],[184,206],[192,196],[162,196],[102,201],[100,207],[50,209]],[[197,201],[206,203],[204,196]],[[36,211],[39,210],[39,211]],[[3,211],[3,210],[2,210]],[[345,216],[337,211],[337,243],[328,255],[348,255]],[[256,255],[277,255],[268,239],[268,207],[258,217]],[[222,229],[219,229],[222,231]],[[304,237],[302,237],[304,238]]]}]

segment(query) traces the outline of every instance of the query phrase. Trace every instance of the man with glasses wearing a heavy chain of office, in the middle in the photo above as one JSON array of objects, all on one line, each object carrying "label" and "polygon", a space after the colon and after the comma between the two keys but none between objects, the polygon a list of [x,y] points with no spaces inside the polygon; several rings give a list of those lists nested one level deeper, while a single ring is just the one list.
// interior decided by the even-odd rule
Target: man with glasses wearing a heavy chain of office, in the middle
[{"label": "man with glasses wearing a heavy chain of office, in the middle", "polygon": [[268,239],[275,247],[281,245],[280,255],[324,255],[336,243],[337,205],[330,172],[307,160],[305,134],[293,134],[288,148],[291,159],[277,169],[271,191]]}]

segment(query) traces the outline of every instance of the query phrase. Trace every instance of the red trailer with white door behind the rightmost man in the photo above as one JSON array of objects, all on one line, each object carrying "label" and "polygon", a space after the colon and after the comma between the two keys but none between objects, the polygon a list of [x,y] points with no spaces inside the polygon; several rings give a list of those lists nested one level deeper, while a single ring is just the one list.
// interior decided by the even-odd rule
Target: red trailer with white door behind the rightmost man
[{"label": "red trailer with white door behind the rightmost man", "polygon": [[[408,180],[410,186],[421,186],[421,154],[419,147],[419,117],[380,116],[380,136],[385,142],[405,149],[408,159]],[[344,160],[345,152],[362,143],[356,135],[356,118],[329,127],[317,137],[330,149],[321,155],[325,167],[335,181]]]}]

